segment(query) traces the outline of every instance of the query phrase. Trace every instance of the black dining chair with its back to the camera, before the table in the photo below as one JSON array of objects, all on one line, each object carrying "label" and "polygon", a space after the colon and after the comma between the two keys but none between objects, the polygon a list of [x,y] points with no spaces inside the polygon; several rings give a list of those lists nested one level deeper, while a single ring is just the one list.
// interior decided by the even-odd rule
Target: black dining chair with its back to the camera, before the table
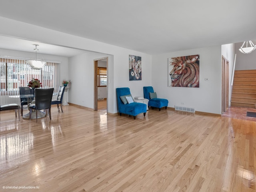
[{"label": "black dining chair with its back to the camera, before the table", "polygon": [[37,112],[38,110],[45,109],[46,110],[46,117],[47,112],[49,113],[50,120],[51,117],[51,102],[52,102],[52,94],[54,88],[48,89],[35,89],[35,104],[31,104],[29,106],[29,119],[31,120],[32,110],[36,110],[36,122],[37,122]]}]

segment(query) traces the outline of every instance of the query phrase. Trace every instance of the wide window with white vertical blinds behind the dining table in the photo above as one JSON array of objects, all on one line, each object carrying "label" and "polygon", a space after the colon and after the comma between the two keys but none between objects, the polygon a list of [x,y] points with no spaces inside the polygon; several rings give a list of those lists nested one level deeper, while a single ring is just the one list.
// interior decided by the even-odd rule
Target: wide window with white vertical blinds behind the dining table
[{"label": "wide window with white vertical blinds behind the dining table", "polygon": [[25,60],[0,58],[1,95],[19,94],[32,78],[42,82],[43,88],[58,90],[58,63],[47,62],[41,70],[33,70]]}]

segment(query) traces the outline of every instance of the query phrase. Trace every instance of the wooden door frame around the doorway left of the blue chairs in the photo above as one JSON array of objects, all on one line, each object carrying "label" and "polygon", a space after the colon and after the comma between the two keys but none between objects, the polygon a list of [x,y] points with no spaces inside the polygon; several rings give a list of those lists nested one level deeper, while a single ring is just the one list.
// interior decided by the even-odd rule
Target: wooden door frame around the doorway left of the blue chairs
[{"label": "wooden door frame around the doorway left of the blue chairs", "polygon": [[[94,59],[94,106],[93,110],[98,111],[98,61],[107,60],[107,79],[108,79],[108,57]],[[108,95],[108,84],[107,84]],[[108,112],[108,99],[107,99],[107,112]]]}]

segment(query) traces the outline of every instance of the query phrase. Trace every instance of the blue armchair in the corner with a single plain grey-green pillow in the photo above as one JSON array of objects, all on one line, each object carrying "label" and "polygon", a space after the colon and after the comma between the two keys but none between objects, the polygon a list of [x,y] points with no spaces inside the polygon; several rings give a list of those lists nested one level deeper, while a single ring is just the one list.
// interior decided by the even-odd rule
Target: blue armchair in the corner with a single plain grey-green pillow
[{"label": "blue armchair in the corner with a single plain grey-green pillow", "polygon": [[168,106],[168,100],[167,99],[161,99],[157,98],[156,92],[154,92],[153,87],[148,86],[148,87],[143,87],[143,92],[144,92],[144,98],[148,99],[148,106],[149,107],[156,107],[161,110],[162,107],[165,107],[167,109]]}]

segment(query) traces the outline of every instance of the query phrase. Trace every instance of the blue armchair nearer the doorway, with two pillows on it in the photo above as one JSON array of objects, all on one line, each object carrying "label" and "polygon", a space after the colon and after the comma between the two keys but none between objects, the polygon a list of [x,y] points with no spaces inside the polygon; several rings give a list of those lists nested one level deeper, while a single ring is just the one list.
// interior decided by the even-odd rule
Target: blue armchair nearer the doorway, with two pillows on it
[{"label": "blue armchair nearer the doorway, with two pillows on it", "polygon": [[[140,113],[143,113],[144,116],[146,115],[147,105],[144,103],[133,102],[132,95],[130,93],[130,88],[116,88],[116,98],[118,104],[118,112],[120,116],[122,115],[122,113],[124,113],[128,114],[129,116],[132,115],[133,118],[136,119],[136,116]],[[129,98],[131,100],[129,100]]]}]

